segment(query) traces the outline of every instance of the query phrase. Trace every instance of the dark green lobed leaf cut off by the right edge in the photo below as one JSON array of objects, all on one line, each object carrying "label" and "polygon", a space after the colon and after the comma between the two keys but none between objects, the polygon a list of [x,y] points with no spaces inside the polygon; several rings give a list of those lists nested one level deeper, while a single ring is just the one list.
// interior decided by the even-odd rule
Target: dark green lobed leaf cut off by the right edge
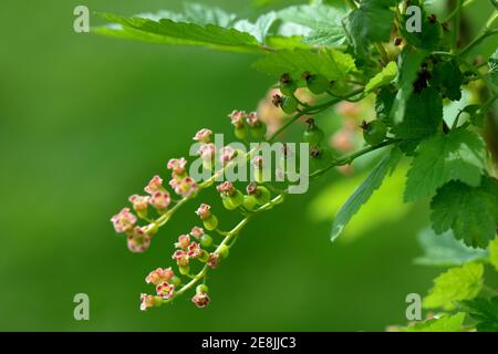
[{"label": "dark green lobed leaf cut off by the right edge", "polygon": [[486,248],[496,235],[498,184],[488,177],[479,187],[450,181],[438,189],[430,209],[436,233],[452,229],[465,244]]}]

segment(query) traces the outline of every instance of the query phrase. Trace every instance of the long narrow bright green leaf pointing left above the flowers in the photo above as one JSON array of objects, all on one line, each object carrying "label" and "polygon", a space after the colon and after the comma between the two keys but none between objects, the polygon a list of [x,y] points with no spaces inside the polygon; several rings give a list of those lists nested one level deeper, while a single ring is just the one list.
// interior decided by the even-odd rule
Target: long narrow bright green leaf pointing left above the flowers
[{"label": "long narrow bright green leaf pointing left above the flowers", "polygon": [[217,24],[175,22],[169,19],[124,18],[110,13],[102,15],[118,25],[94,29],[94,32],[101,34],[154,43],[200,45],[238,52],[261,50],[261,45],[251,34]]}]

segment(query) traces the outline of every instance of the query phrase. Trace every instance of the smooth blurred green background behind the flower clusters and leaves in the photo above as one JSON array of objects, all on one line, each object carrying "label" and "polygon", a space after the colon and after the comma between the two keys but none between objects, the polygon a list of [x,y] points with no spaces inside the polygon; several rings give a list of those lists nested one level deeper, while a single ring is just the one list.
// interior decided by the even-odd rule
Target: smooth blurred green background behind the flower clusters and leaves
[{"label": "smooth blurred green background behind the flower clusters and leaves", "polygon": [[[248,1],[205,2],[248,11]],[[406,322],[406,294],[425,294],[439,270],[413,264],[427,202],[401,206],[403,171],[339,242],[329,240],[333,208],[359,179],[331,174],[248,226],[212,272],[209,308],[187,296],[141,312],[139,293],[152,291],[145,275],[172,262],[197,201],[144,254],[127,251],[110,217],[151,176],[166,176],[167,159],[185,155],[198,128],[229,133],[226,114],[255,108],[272,82],[250,69],[251,55],[76,34],[77,4],[121,14],[180,8],[2,1],[0,330],[383,331]],[[317,216],[308,206],[326,209],[323,190],[331,209]],[[90,295],[90,321],[73,319],[80,292]]]}]

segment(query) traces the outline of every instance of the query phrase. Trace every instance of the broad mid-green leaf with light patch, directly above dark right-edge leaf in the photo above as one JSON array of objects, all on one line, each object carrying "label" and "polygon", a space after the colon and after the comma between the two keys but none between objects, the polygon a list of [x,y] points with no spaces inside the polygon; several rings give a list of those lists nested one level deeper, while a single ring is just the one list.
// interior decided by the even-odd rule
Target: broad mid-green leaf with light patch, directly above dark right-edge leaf
[{"label": "broad mid-green leaf with light patch, directly above dark right-edge leaf", "polygon": [[449,180],[477,187],[485,169],[485,159],[483,138],[465,128],[452,129],[448,134],[424,140],[407,174],[405,200],[432,196]]}]

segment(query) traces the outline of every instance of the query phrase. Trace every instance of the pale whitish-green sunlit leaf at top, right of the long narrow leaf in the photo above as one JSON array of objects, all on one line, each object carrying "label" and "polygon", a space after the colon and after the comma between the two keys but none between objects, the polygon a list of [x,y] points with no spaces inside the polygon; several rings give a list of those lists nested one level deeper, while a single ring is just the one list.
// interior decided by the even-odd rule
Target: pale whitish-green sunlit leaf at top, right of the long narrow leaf
[{"label": "pale whitish-green sunlit leaf at top, right of the long narrow leaf", "polygon": [[341,23],[344,14],[342,8],[318,3],[293,6],[278,11],[278,18],[286,22],[286,28],[289,23],[304,28],[304,31],[301,29],[305,33],[303,42],[324,46],[344,42],[345,33]]}]

